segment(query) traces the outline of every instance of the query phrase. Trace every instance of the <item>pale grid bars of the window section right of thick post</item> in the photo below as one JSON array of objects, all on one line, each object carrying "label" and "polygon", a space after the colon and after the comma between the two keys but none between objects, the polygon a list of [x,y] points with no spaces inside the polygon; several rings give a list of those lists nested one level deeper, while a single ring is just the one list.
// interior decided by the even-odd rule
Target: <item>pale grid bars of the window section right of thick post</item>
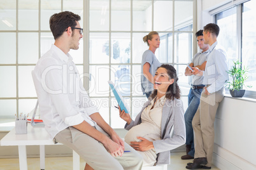
[{"label": "pale grid bars of the window section right of thick post", "polygon": [[[111,39],[112,39],[112,34],[115,34],[115,33],[118,33],[118,32],[122,32],[122,33],[130,33],[131,34],[131,60],[130,60],[130,63],[111,63],[111,62],[109,62],[109,63],[105,63],[104,65],[109,65],[110,67],[112,66],[112,65],[129,65],[130,66],[130,74],[132,74],[132,72],[133,72],[133,67],[132,66],[134,66],[134,65],[141,65],[140,63],[133,63],[132,62],[132,47],[133,47],[133,41],[132,41],[132,37],[133,37],[133,34],[136,34],[136,33],[145,33],[145,32],[150,32],[150,31],[152,31],[152,30],[155,30],[154,28],[153,28],[153,25],[154,25],[154,20],[153,20],[153,15],[154,15],[154,3],[155,3],[155,1],[152,1],[152,16],[151,16],[151,20],[152,20],[152,30],[146,30],[146,31],[144,31],[144,30],[141,30],[141,31],[139,31],[139,30],[132,30],[132,26],[133,26],[133,21],[132,21],[132,16],[133,16],[133,6],[132,6],[132,1],[134,1],[134,0],[131,0],[131,30],[127,30],[127,31],[124,31],[124,30],[122,30],[122,31],[118,31],[118,30],[111,30],[111,24],[110,24],[110,28],[109,28],[109,30],[101,30],[101,31],[97,31],[97,30],[90,30],[90,28],[89,28],[89,26],[87,26],[87,29],[85,29],[85,37],[89,37],[89,38],[87,38],[87,39],[85,39],[85,41],[90,41],[90,33],[97,33],[97,32],[101,32],[101,33],[107,33],[107,34],[109,34],[109,42],[111,42]],[[172,3],[174,4],[175,3],[175,1],[174,0],[171,0],[172,1]],[[196,4],[197,4],[197,2],[196,2],[196,0],[192,0],[193,1],[193,4],[194,4],[194,6],[196,6]],[[110,0],[110,2],[109,2],[110,4],[109,4],[109,7],[110,7],[110,13],[109,13],[109,15],[110,15],[110,17],[109,17],[109,20],[110,20],[110,23],[111,23],[111,0]],[[87,11],[90,11],[90,1],[87,1]],[[89,20],[89,12],[88,12],[88,15],[84,15],[83,17],[84,17],[84,19],[85,20]],[[173,15],[174,15],[174,5],[173,5]],[[174,18],[174,16],[173,16],[173,18]],[[85,22],[84,22],[85,23]],[[84,25],[84,28],[86,27],[86,25]],[[180,29],[182,29],[182,28],[185,28],[185,27],[189,27],[189,29],[190,30],[180,30]],[[169,64],[171,64],[171,65],[173,65],[174,67],[175,67],[175,65],[187,65],[187,63],[174,63],[174,57],[172,58],[172,60],[169,60],[169,58],[168,58],[168,56],[170,56],[170,55],[173,55],[174,56],[174,47],[175,47],[175,45],[174,45],[174,36],[178,36],[178,34],[180,34],[180,33],[190,33],[190,34],[192,34],[192,36],[194,36],[194,34],[196,33],[195,31],[196,31],[196,12],[194,11],[193,12],[193,19],[192,20],[190,20],[190,22],[186,22],[185,23],[185,25],[183,25],[183,27],[182,28],[175,28],[174,27],[174,20],[173,20],[173,27],[172,27],[172,29],[170,29],[170,30],[166,30],[166,31],[164,31],[164,30],[155,30],[155,31],[157,31],[157,32],[159,32],[159,34],[160,35],[163,35],[163,36],[166,36],[166,51],[165,51],[165,53],[166,53],[166,60],[165,61],[167,61],[167,63],[169,63]],[[176,34],[177,33],[177,34]],[[168,49],[168,40],[169,40],[169,34],[172,34],[172,36],[173,36],[173,39],[172,39],[172,41],[170,42],[170,43],[172,43],[171,45],[173,46],[173,51],[171,51],[172,52],[172,54],[169,54],[169,52],[170,51],[168,51],[167,49]],[[195,50],[195,49],[197,49],[197,43],[195,43],[196,41],[195,41],[195,39],[193,39],[193,38],[191,38],[190,39],[190,46],[191,46],[191,49],[190,49],[190,51],[192,52],[192,51],[194,51],[194,53],[196,53],[197,51]],[[176,41],[176,43],[178,43],[178,41]],[[84,43],[84,44],[86,44],[86,43]],[[89,42],[88,42],[88,44],[89,44]],[[90,63],[90,61],[89,61],[89,59],[87,59],[88,57],[87,56],[89,56],[89,52],[88,51],[90,51],[89,49],[86,49],[87,47],[84,47],[84,50],[85,50],[85,53],[87,53],[87,55],[85,55],[85,67],[87,67],[87,69],[89,69],[90,68],[90,66],[92,66],[92,65],[98,65],[98,64],[95,64],[95,63]],[[113,51],[111,51],[111,44],[109,44],[109,48],[110,48],[110,51],[109,51],[109,53],[110,53],[110,58],[109,58],[109,60],[111,61],[111,53],[113,52]],[[191,62],[191,60],[192,60],[192,56],[193,56],[194,54],[191,54],[190,55],[190,59],[188,59],[188,62]],[[188,56],[189,57],[189,56]],[[101,64],[99,64],[99,65],[101,65]],[[86,70],[86,68],[84,69],[84,71],[85,72],[87,72],[87,70]],[[185,70],[182,70],[182,72],[183,71],[185,71]],[[89,72],[89,70],[88,70],[88,72]],[[188,79],[189,80],[189,79]],[[189,81],[188,81],[188,83],[189,83]],[[86,80],[84,80],[84,82],[83,82],[83,84],[85,84],[85,89],[89,89],[89,81],[86,81]],[[183,84],[182,84],[183,85]],[[189,84],[187,84],[187,86],[189,87]],[[186,86],[186,88],[187,88],[187,86]],[[131,89],[132,89],[133,87],[132,87],[132,83],[131,83]],[[89,96],[90,96],[90,94],[89,94]],[[129,103],[129,110],[131,110],[131,117],[133,117],[133,115],[134,114],[136,114],[136,113],[132,113],[132,110],[134,110],[133,109],[133,107],[132,107],[132,100],[134,100],[134,99],[136,99],[136,98],[142,98],[143,96],[145,96],[145,95],[133,95],[132,93],[131,93],[131,95],[129,95],[129,96],[127,96],[127,97],[129,97],[129,98],[131,98],[131,100],[130,100],[130,103]],[[181,96],[184,96],[184,97],[187,97],[188,96],[188,94],[186,94],[186,95],[181,95]],[[101,98],[101,97],[99,97],[99,96],[90,96],[90,98]],[[113,98],[113,95],[111,95],[111,91],[110,91],[110,94],[109,94],[109,96],[108,96],[108,98],[109,98],[109,100],[111,101],[111,99]],[[109,103],[110,105],[112,104],[112,103]],[[112,113],[113,114],[113,113]],[[113,121],[113,120],[112,120]],[[109,108],[109,119],[108,119],[108,122],[109,122],[109,124],[110,124],[110,126],[111,126],[111,106],[110,106],[110,108]],[[118,129],[118,128],[115,128],[115,129]]]}]

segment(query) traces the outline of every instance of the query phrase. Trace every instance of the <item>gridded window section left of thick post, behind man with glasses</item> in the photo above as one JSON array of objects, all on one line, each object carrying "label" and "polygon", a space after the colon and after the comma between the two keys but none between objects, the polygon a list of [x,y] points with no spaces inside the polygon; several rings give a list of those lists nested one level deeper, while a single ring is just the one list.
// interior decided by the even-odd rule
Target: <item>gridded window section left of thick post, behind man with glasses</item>
[{"label": "gridded window section left of thick post, behind man with glasses", "polygon": [[[82,15],[82,4],[82,0],[76,3],[70,0],[0,3],[0,39],[4,40],[0,41],[0,119],[13,119],[15,114],[27,114],[34,108],[37,96],[31,70],[54,42],[49,18],[64,10]],[[80,23],[83,25],[83,21]],[[80,49],[70,53],[77,55],[75,63],[83,72],[83,42],[80,43]]]}]

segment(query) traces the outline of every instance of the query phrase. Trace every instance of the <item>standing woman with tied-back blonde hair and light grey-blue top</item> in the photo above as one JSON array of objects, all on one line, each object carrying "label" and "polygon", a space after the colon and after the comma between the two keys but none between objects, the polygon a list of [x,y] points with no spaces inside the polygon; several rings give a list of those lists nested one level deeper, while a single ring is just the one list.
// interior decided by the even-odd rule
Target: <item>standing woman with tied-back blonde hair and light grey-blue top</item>
[{"label": "standing woman with tied-back blonde hair and light grey-blue top", "polygon": [[157,70],[157,67],[160,67],[161,63],[155,57],[155,50],[159,48],[160,45],[160,37],[158,32],[152,31],[145,37],[143,37],[143,41],[148,44],[149,49],[147,49],[142,56],[141,61],[141,90],[143,95],[146,94],[146,98],[148,98],[153,91],[153,75]]}]

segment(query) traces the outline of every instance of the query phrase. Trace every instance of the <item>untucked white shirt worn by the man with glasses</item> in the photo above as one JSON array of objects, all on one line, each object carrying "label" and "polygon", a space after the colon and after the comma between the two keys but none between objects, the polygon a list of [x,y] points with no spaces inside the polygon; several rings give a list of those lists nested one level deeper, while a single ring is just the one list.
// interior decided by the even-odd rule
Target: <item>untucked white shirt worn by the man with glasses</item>
[{"label": "untucked white shirt worn by the man with glasses", "polygon": [[98,112],[83,88],[73,58],[52,44],[34,68],[34,84],[45,129],[54,136],[83,121],[95,126],[89,115]]}]

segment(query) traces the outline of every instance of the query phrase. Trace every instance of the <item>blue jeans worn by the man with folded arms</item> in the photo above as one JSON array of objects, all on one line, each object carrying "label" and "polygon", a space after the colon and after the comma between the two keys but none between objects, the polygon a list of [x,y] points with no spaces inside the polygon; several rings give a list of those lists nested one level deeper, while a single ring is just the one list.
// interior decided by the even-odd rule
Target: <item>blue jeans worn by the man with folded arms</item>
[{"label": "blue jeans worn by the man with folded arms", "polygon": [[188,155],[190,155],[192,157],[194,157],[194,154],[195,154],[192,119],[193,119],[194,115],[196,114],[197,108],[199,106],[200,96],[201,96],[202,91],[203,91],[203,89],[190,88],[190,91],[188,94],[188,108],[184,114],[185,126],[186,126],[186,145],[191,145],[191,150],[188,152]]}]

